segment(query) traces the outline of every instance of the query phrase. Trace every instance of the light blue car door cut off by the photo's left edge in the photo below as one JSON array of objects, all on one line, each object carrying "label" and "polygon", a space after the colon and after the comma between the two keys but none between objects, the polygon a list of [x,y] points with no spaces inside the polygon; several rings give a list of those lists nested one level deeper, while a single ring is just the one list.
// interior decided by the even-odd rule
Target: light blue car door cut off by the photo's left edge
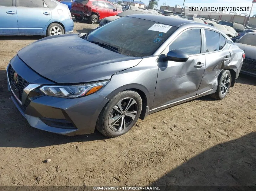
[{"label": "light blue car door cut off by the photo's left edge", "polygon": [[18,33],[15,1],[0,0],[0,33]]}]

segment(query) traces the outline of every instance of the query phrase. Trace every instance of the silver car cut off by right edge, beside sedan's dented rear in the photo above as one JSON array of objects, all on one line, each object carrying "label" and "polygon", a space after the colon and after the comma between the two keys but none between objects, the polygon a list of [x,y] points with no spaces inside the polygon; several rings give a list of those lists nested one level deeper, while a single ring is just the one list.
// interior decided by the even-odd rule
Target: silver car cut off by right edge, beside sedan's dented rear
[{"label": "silver car cut off by right edge, beside sedan's dented rear", "polygon": [[241,73],[256,77],[256,32],[246,33],[235,44],[246,55]]}]

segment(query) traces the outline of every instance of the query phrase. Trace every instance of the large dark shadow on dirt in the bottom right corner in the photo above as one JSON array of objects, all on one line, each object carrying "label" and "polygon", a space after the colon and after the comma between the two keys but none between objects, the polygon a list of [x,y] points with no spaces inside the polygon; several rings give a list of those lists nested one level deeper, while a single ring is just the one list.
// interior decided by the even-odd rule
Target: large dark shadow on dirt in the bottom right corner
[{"label": "large dark shadow on dirt in the bottom right corner", "polygon": [[[211,189],[211,186],[221,185],[254,186],[250,190],[255,190],[256,132],[215,145],[187,159],[185,163],[169,171],[152,185],[173,186],[172,190],[223,190],[221,187]],[[248,188],[226,187],[224,190],[248,190]],[[168,189],[166,187],[161,190]]]}]

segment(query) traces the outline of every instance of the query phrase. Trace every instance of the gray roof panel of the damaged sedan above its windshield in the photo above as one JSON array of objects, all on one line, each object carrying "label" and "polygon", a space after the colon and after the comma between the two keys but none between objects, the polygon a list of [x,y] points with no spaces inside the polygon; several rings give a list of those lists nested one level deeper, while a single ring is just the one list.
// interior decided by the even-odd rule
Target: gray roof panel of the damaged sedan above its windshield
[{"label": "gray roof panel of the damaged sedan above its windshield", "polygon": [[[191,20],[188,20],[188,19],[181,19],[181,18],[178,18],[178,17],[177,18],[175,18],[175,17],[166,17],[166,16],[156,15],[156,14],[132,14],[132,15],[128,15],[127,17],[145,19],[145,20],[149,20],[149,21],[162,23],[162,24],[168,24],[168,25],[175,26],[175,27],[179,27],[179,26],[181,26],[182,24],[185,24],[185,23],[196,23],[196,24],[198,24],[198,22],[191,21]],[[205,24],[202,23],[202,25],[204,26]]]}]

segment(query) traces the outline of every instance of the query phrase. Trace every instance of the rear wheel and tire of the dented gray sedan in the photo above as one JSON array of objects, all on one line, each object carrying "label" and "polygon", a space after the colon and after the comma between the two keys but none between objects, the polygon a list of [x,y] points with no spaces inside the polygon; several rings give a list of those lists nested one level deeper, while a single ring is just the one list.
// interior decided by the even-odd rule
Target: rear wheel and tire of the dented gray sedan
[{"label": "rear wheel and tire of the dented gray sedan", "polygon": [[218,88],[210,96],[216,100],[222,100],[228,94],[231,85],[231,74],[228,70],[223,70],[218,76]]}]

